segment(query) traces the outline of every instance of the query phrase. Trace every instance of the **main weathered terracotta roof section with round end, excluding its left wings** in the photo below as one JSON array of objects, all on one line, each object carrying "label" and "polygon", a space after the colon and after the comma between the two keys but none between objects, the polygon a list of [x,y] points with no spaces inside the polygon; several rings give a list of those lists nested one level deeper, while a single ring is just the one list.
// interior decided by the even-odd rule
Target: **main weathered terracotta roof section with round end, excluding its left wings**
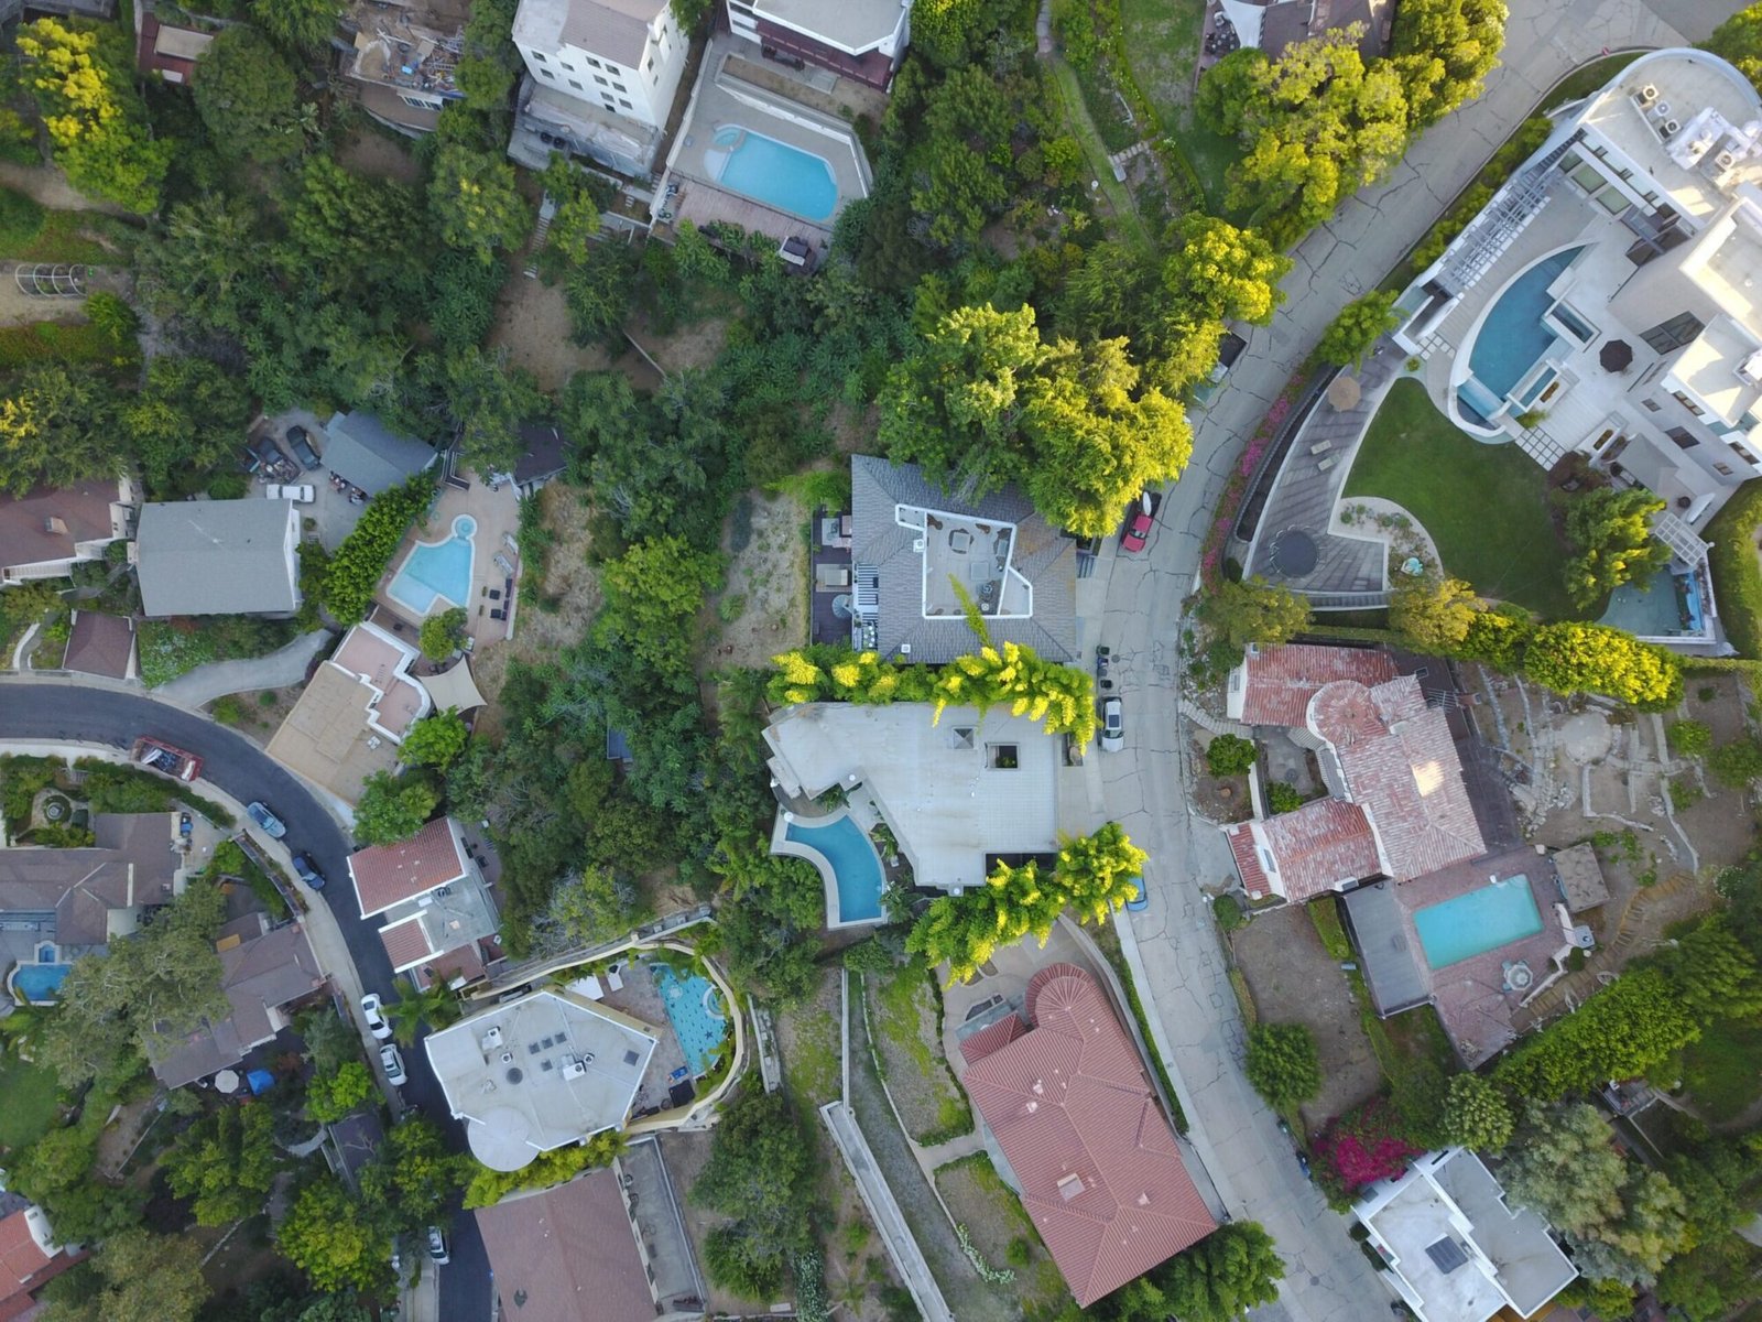
[{"label": "main weathered terracotta roof section with round end, excluding its left wings", "polygon": [[1448,719],[1425,705],[1413,675],[1374,689],[1330,684],[1311,703],[1309,728],[1334,746],[1392,878],[1411,881],[1487,851]]}]

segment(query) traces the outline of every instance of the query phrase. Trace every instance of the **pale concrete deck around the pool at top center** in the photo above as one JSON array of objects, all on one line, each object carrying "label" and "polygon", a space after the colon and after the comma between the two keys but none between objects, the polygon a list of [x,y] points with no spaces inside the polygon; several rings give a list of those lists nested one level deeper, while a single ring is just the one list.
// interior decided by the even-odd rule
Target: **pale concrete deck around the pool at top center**
[{"label": "pale concrete deck around the pool at top center", "polygon": [[[825,249],[832,243],[837,210],[851,199],[869,196],[872,187],[869,160],[855,129],[842,120],[779,93],[774,86],[742,78],[740,74],[751,65],[745,55],[744,41],[722,33],[710,39],[685,108],[685,120],[668,152],[661,178],[664,201],[659,206],[673,215],[657,224],[655,231],[666,236],[680,220],[691,220],[698,227],[724,220],[775,240],[800,234]],[[839,187],[833,215],[811,220],[717,185],[705,166],[705,152],[712,146],[715,130],[728,123],[738,123],[786,146],[809,152],[832,166],[832,178]],[[666,192],[670,187],[677,189],[671,196]]]}]

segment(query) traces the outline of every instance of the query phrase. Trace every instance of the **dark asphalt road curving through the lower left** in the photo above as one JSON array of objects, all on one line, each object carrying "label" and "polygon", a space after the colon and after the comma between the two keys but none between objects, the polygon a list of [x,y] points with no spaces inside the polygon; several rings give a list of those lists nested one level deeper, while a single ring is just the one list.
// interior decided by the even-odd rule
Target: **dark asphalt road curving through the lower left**
[{"label": "dark asphalt road curving through the lower left", "polygon": [[[365,922],[349,885],[349,839],[337,820],[263,749],[224,726],[180,707],[115,689],[76,684],[0,682],[0,740],[51,739],[67,744],[132,747],[157,735],[203,758],[203,777],[240,802],[263,800],[287,823],[291,850],[310,853],[329,885],[322,892],[363,987],[393,987],[391,961],[379,943],[377,922]],[[421,1042],[403,1049],[411,1081],[400,1089],[405,1105],[440,1125],[456,1149],[465,1135],[448,1110]],[[474,1216],[456,1216],[449,1232],[453,1260],[440,1267],[440,1322],[483,1322],[490,1317],[490,1260]]]}]

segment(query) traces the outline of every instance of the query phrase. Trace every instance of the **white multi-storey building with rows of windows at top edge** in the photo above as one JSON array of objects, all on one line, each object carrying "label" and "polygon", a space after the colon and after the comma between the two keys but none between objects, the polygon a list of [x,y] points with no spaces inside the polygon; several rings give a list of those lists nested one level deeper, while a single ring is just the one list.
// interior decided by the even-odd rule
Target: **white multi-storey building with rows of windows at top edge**
[{"label": "white multi-storey building with rows of windows at top edge", "polygon": [[673,109],[691,46],[668,0],[522,0],[513,41],[537,88],[650,129]]}]

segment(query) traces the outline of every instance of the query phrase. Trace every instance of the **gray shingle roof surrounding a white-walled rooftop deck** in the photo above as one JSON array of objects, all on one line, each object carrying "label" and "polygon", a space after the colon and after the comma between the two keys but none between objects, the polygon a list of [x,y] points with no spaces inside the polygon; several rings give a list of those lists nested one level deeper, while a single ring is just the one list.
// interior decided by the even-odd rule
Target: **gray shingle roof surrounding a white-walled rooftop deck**
[{"label": "gray shingle roof surrounding a white-walled rooftop deck", "polygon": [[964,619],[923,617],[923,555],[913,550],[918,534],[895,522],[897,504],[1015,524],[1011,566],[1034,587],[1034,613],[992,619],[992,642],[1033,647],[1048,661],[1077,659],[1077,543],[1034,513],[1025,495],[1006,486],[980,501],[960,501],[925,479],[914,464],[855,455],[851,564],[872,568],[879,580],[876,650],[883,657],[897,659],[909,643],[907,659],[941,665],[980,649]]}]

